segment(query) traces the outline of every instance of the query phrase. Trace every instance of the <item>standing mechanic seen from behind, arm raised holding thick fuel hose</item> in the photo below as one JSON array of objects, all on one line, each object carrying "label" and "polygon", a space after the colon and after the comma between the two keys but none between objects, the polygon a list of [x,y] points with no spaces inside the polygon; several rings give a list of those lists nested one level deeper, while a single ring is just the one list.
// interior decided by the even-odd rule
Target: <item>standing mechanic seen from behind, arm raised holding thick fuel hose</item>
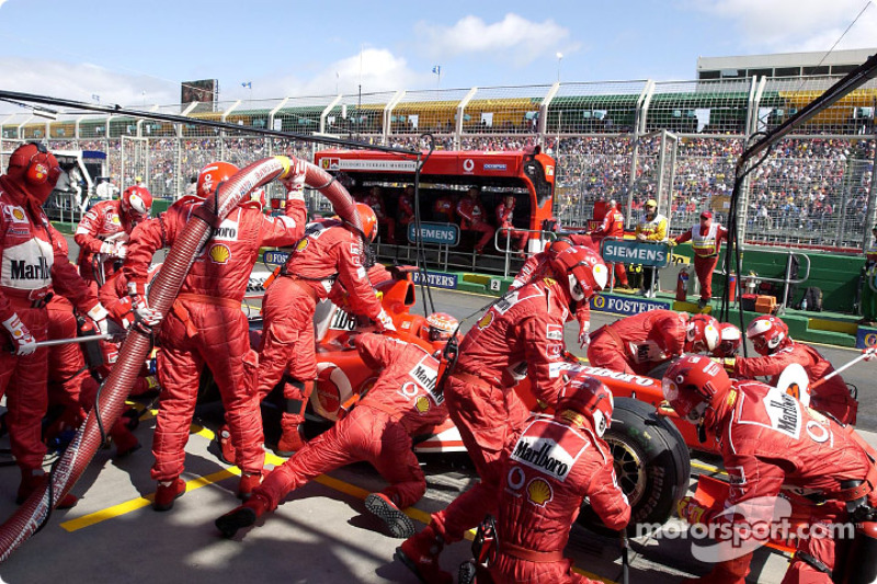
[{"label": "standing mechanic seen from behind, arm raised holding thick fuel hose", "polygon": [[[213,195],[219,184],[237,171],[227,162],[207,164],[198,174],[197,196],[203,201]],[[292,245],[304,232],[304,163],[293,172],[293,178],[284,181],[288,190],[285,215],[267,217],[259,203],[243,201],[213,230],[161,322],[158,354],[161,394],[152,440],[156,457],[152,478],[158,481],[152,503],[156,511],[172,508],[174,499],[185,492],[185,481],[180,474],[184,468],[198,378],[205,364],[209,364],[219,387],[237,450],[236,462],[242,471],[238,496],[249,496],[262,480],[265,459],[262,417],[254,399],[258,357],[250,348],[241,301],[259,248]],[[198,209],[197,204],[174,205],[158,219],[134,231],[123,272],[135,296],[132,301],[137,307],[135,314],[147,325],[162,319],[153,310],[141,308],[146,306],[144,287],[149,262],[157,250],[173,244]]]}]

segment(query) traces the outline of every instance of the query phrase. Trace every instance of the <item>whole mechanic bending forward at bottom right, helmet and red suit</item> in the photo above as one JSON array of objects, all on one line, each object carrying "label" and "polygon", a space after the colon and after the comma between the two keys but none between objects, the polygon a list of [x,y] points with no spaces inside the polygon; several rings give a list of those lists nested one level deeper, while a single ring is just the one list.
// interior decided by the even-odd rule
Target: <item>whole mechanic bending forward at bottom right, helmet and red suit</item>
[{"label": "whole mechanic bending forward at bottom right, helmet and red suit", "polygon": [[[731,482],[719,508],[704,508],[685,497],[680,515],[692,524],[740,525],[745,541],[752,537],[750,526],[773,520],[774,502],[783,491],[809,512],[811,527],[825,527],[798,539],[783,583],[832,582],[831,571],[839,565],[831,524],[848,520],[847,508],[877,504],[877,468],[864,439],[777,388],[729,379],[707,357],[686,355],[674,363],[664,375],[663,392],[704,439],[718,443]],[[751,559],[750,551],[721,561],[694,582],[743,584]]]}]

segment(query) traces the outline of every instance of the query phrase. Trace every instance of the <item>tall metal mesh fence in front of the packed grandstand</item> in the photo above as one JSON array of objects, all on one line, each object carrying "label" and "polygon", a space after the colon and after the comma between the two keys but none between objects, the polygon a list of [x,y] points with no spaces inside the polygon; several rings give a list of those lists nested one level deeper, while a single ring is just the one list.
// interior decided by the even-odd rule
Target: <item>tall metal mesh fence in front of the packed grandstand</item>
[{"label": "tall metal mesh fence in front of the packed grandstand", "polygon": [[[0,117],[0,152],[20,140],[107,153],[121,187],[143,176],[153,195],[174,198],[205,163],[244,164],[272,153],[312,159],[318,144],[266,138],[271,128],[368,144],[506,150],[540,145],[558,160],[555,213],[582,226],[593,203],[615,198],[631,226],[642,203],[659,201],[671,232],[713,209],[726,219],[733,168],[747,140],[783,123],[838,78],[747,78],[555,83],[172,104],[172,124],[66,112],[48,122]],[[812,118],[775,147],[743,192],[745,239],[861,249],[875,222],[872,183],[877,82]],[[240,126],[226,131],[197,119]],[[5,160],[0,157],[0,163]]]}]

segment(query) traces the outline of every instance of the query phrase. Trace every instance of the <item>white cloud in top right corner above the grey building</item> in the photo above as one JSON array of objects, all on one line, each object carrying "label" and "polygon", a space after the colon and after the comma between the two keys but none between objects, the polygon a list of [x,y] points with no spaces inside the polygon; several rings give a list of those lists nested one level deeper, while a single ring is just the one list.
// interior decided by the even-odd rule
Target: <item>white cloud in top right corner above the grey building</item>
[{"label": "white cloud in top right corner above the grey building", "polygon": [[[697,10],[736,23],[753,51],[829,50],[855,20],[862,0],[693,0]],[[836,48],[877,46],[877,7],[869,4]]]}]

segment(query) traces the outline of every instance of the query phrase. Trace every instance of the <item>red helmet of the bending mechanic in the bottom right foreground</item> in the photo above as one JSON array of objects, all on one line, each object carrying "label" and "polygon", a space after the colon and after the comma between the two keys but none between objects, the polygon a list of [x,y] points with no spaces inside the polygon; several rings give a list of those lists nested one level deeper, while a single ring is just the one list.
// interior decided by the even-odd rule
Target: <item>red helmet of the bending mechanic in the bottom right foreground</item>
[{"label": "red helmet of the bending mechanic in the bottom right foreground", "polygon": [[692,424],[703,417],[709,405],[721,403],[731,389],[725,368],[701,355],[683,355],[667,370],[661,385],[664,399]]}]

